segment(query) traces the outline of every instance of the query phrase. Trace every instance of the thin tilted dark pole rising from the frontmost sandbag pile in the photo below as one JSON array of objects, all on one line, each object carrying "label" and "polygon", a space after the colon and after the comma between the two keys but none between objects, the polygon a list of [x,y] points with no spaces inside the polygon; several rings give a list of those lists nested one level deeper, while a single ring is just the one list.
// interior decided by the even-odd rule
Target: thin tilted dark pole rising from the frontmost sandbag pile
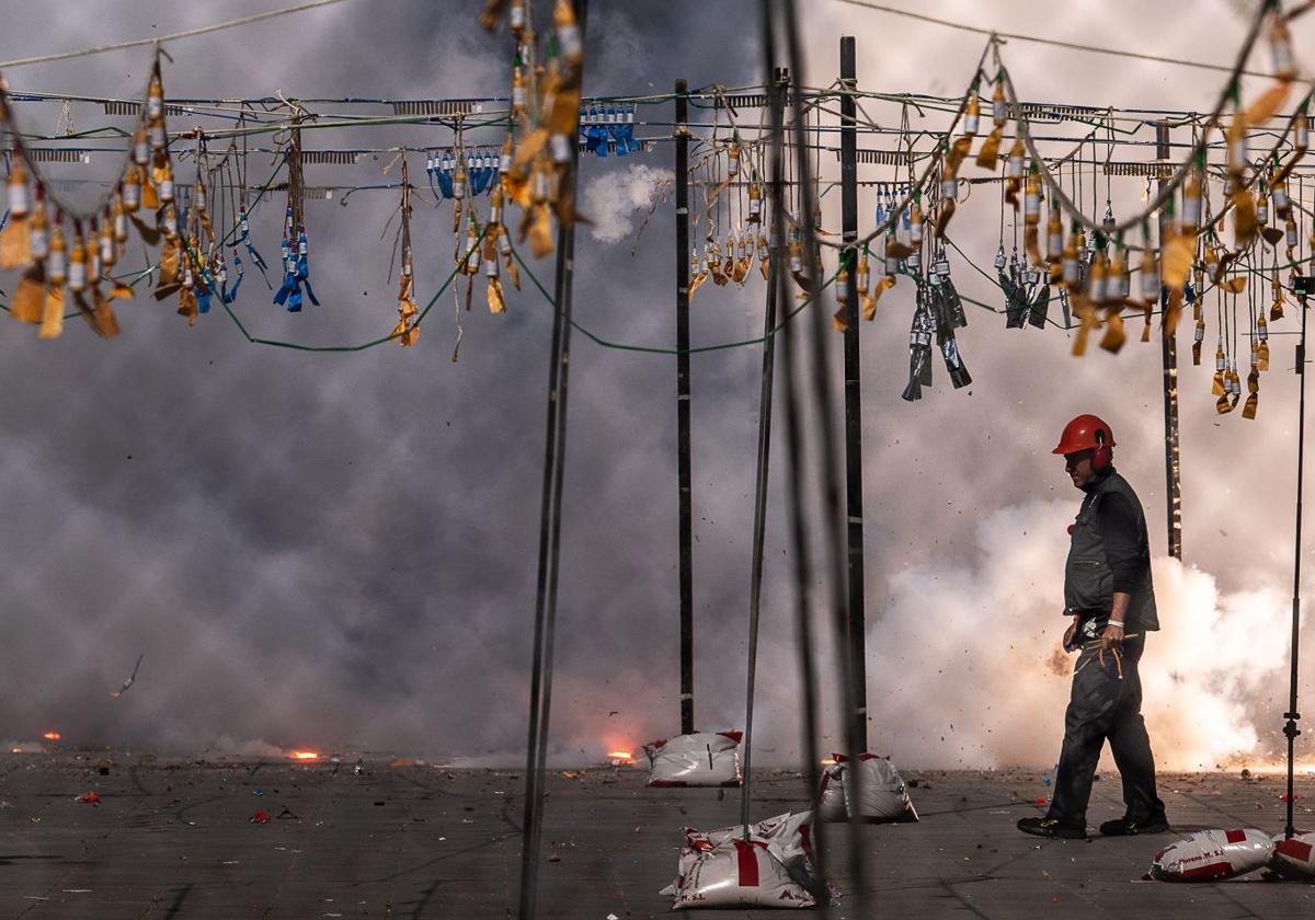
[{"label": "thin tilted dark pole rising from the frontmost sandbag pile", "polygon": [[[790,71],[777,67],[772,80],[778,91],[771,93],[772,125],[780,125],[785,118],[785,93],[790,84]],[[761,177],[759,177],[761,179]],[[780,200],[778,180],[771,181],[769,201]],[[775,225],[780,217],[776,209],[771,212]],[[748,840],[750,806],[752,803],[753,777],[753,686],[757,676],[757,624],[763,599],[763,543],[767,536],[767,486],[772,459],[772,381],[776,369],[776,262],[780,252],[775,241],[780,235],[775,229],[768,231],[772,243],[768,244],[768,284],[767,308],[763,311],[763,377],[757,396],[757,471],[753,478],[753,568],[748,589],[748,676],[744,694],[744,785],[740,789],[740,824],[744,825],[744,839]]]}]

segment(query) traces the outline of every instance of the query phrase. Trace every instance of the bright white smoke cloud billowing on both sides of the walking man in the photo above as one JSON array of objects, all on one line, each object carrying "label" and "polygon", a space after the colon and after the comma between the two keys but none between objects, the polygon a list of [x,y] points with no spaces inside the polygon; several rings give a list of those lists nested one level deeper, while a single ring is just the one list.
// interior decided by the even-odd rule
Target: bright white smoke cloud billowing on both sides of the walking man
[{"label": "bright white smoke cloud billowing on both sides of the walking man", "polygon": [[[972,566],[917,565],[892,580],[868,640],[873,749],[919,768],[1056,761],[1073,668],[1059,652],[1073,513],[1073,502],[994,511]],[[1156,762],[1212,769],[1266,753],[1257,725],[1286,691],[1281,593],[1220,595],[1212,576],[1169,559],[1153,574],[1162,628],[1140,673]]]}]

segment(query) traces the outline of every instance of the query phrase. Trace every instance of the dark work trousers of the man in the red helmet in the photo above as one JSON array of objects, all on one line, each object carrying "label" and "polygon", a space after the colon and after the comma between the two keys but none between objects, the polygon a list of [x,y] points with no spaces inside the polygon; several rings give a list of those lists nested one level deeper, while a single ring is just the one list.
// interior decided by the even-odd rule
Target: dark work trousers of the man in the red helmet
[{"label": "dark work trousers of the man in the red helmet", "polygon": [[1086,825],[1091,779],[1106,739],[1123,777],[1126,816],[1141,824],[1164,820],[1164,802],[1156,795],[1155,758],[1141,719],[1141,678],[1137,661],[1144,639],[1122,645],[1123,677],[1112,652],[1101,662],[1098,649],[1084,649],[1073,670],[1073,691],[1064,715],[1064,747],[1055,777],[1055,798],[1048,817]]}]

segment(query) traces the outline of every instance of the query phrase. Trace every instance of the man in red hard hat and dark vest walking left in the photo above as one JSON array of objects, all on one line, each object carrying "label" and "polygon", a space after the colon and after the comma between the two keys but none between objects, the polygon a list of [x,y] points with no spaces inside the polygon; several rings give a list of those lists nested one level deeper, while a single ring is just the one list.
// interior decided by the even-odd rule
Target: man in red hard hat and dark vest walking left
[{"label": "man in red hard hat and dark vest walking left", "polygon": [[1024,817],[1018,829],[1039,837],[1085,837],[1091,781],[1109,739],[1127,811],[1103,823],[1101,833],[1160,833],[1169,821],[1156,795],[1137,676],[1145,633],[1160,628],[1145,514],[1132,486],[1114,469],[1114,435],[1099,418],[1074,418],[1053,452],[1064,455],[1073,485],[1086,493],[1069,527],[1064,565],[1064,612],[1073,618],[1064,648],[1080,648],[1081,655],[1064,716],[1055,796],[1045,817]]}]

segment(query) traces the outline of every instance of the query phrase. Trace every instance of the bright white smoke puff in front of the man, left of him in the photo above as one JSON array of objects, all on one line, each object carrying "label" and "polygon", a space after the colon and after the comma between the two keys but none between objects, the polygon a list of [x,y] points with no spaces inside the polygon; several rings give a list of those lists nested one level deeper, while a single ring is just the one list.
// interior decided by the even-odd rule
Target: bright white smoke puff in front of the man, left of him
[{"label": "bright white smoke puff in front of the man, left of him", "polygon": [[1072,513],[1064,502],[1002,509],[977,527],[976,565],[894,576],[868,639],[871,748],[919,768],[1055,762]]}]

